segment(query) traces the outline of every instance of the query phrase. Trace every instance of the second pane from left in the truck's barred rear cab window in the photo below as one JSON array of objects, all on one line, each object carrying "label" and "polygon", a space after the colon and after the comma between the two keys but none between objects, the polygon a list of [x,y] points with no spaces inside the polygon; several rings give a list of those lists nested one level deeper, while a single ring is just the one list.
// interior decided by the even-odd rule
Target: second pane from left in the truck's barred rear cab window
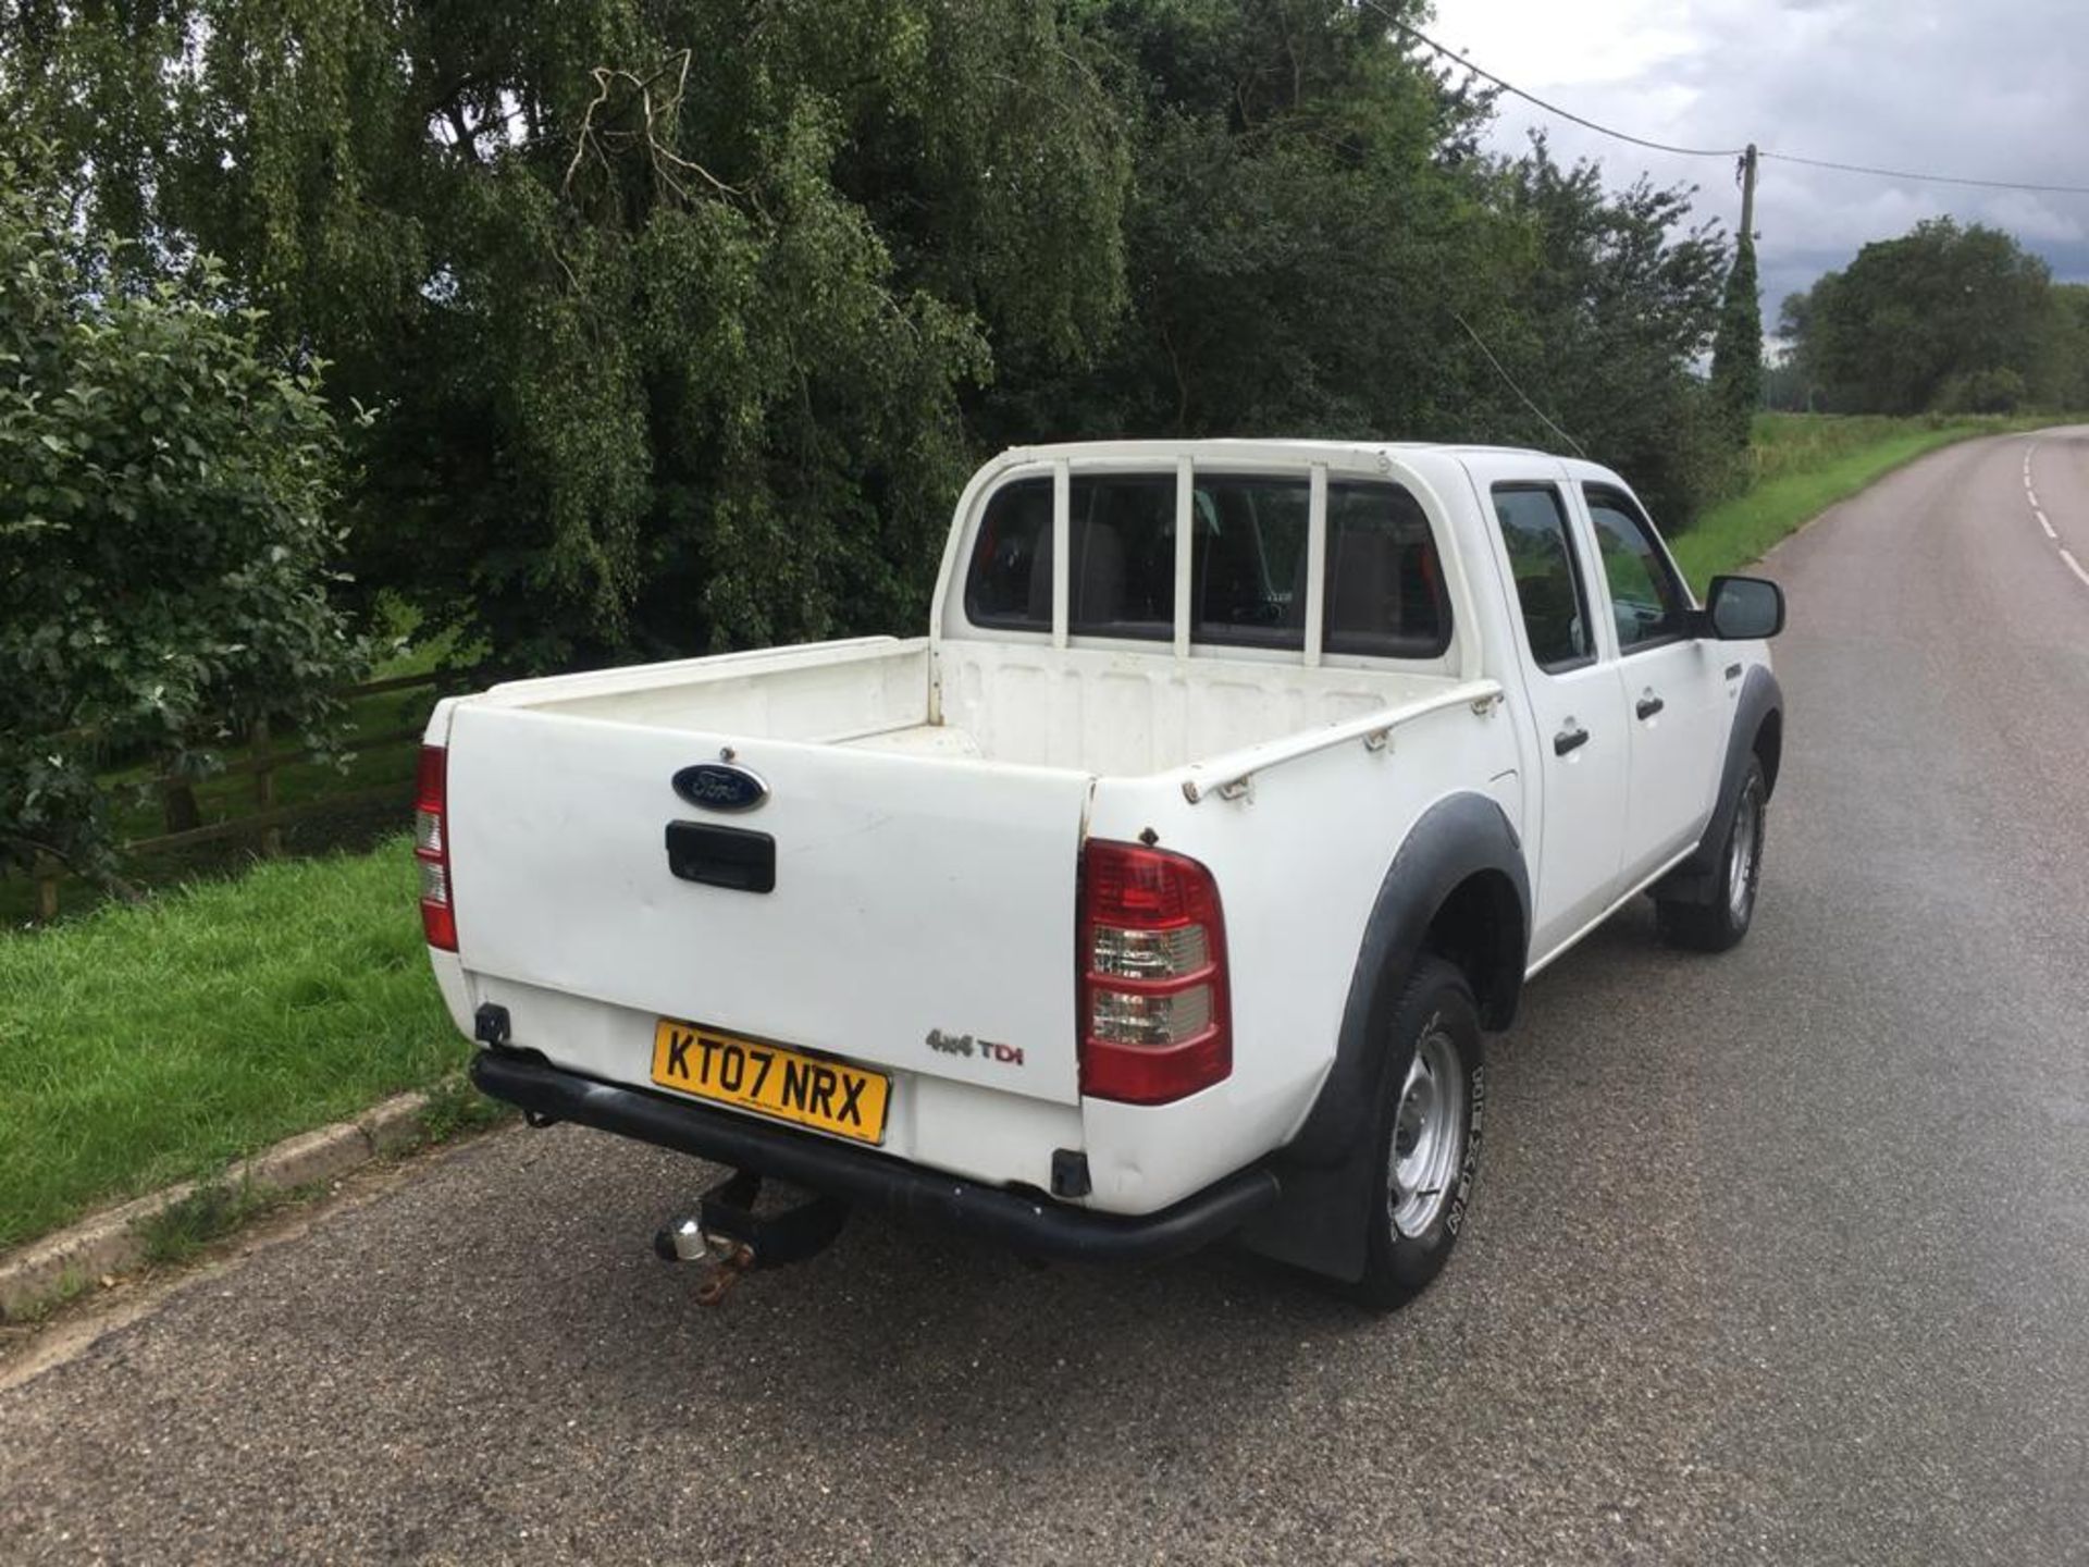
[{"label": "second pane from left in the truck's barred rear cab window", "polygon": [[[1067,629],[1174,635],[1174,474],[1074,474]],[[1049,621],[1049,616],[1047,616]]]}]

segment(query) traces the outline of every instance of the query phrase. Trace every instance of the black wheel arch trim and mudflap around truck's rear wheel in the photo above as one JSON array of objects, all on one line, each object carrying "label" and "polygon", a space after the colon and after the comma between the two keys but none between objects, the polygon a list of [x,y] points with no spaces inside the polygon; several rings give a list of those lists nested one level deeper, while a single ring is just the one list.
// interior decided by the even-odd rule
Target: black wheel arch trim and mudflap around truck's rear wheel
[{"label": "black wheel arch trim and mudflap around truck's rear wheel", "polygon": [[1243,1229],[1249,1249],[1333,1279],[1362,1277],[1375,1191],[1370,1126],[1383,1093],[1391,1015],[1437,913],[1481,873],[1492,873],[1485,886],[1506,886],[1512,894],[1494,913],[1512,919],[1515,932],[1473,976],[1479,1022],[1502,1030],[1515,1020],[1531,930],[1523,846],[1500,802],[1485,794],[1452,794],[1423,813],[1379,884],[1349,976],[1335,1063],[1297,1137],[1270,1162],[1283,1191]]}]

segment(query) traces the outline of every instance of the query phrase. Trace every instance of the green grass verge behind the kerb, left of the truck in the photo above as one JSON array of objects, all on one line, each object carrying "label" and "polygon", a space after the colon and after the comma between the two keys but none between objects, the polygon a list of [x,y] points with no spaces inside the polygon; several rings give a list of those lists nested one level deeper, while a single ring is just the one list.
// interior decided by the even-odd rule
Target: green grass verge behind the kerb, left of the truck
[{"label": "green grass verge behind the kerb, left of the truck", "polygon": [[0,936],[0,1247],[466,1059],[405,840]]}]

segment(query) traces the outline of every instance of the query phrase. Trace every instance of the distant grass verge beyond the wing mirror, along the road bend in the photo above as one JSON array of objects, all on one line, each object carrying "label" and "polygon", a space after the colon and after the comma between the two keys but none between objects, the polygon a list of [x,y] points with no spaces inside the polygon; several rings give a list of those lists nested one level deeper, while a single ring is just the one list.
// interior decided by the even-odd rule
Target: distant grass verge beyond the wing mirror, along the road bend
[{"label": "distant grass verge beyond the wing mirror, along the road bend", "polygon": [[1751,487],[1705,512],[1669,547],[1703,593],[1719,572],[1740,570],[1801,524],[1924,451],[2056,422],[2062,420],[1761,414],[1748,447]]}]

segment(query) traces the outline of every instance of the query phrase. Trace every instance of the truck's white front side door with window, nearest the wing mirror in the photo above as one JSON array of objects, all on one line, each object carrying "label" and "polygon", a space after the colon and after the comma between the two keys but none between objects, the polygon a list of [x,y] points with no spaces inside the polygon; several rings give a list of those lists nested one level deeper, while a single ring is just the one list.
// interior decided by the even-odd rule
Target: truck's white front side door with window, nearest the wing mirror
[{"label": "truck's white front side door with window, nearest the wing mirror", "polygon": [[1623,489],[1583,483],[1617,629],[1617,679],[1632,735],[1625,886],[1696,844],[1723,756],[1726,694],[1717,644],[1692,633],[1690,589]]}]

